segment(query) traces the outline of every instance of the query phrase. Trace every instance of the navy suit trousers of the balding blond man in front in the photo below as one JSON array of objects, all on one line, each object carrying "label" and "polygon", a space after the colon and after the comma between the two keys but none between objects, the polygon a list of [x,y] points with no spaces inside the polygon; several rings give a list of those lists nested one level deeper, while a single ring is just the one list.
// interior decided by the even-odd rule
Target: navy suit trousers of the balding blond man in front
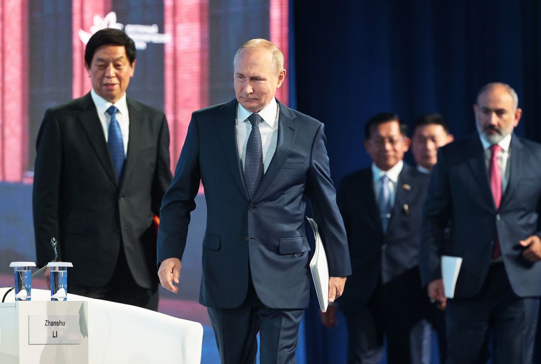
[{"label": "navy suit trousers of the balding blond man in front", "polygon": [[252,364],[260,336],[261,364],[295,363],[299,325],[304,309],[276,309],[263,305],[249,279],[248,294],[241,306],[208,308],[216,345],[223,364]]}]

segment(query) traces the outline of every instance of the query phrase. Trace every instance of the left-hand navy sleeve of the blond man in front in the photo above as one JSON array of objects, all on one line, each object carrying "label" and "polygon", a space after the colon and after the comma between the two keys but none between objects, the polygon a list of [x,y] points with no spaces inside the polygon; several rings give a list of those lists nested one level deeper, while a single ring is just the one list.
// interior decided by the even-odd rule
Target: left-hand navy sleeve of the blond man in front
[{"label": "left-hand navy sleeve of the blond man in front", "polygon": [[200,181],[199,131],[196,116],[192,114],[175,176],[163,196],[157,242],[158,264],[164,259],[173,257],[182,260],[190,213],[195,209],[195,196],[199,191]]}]

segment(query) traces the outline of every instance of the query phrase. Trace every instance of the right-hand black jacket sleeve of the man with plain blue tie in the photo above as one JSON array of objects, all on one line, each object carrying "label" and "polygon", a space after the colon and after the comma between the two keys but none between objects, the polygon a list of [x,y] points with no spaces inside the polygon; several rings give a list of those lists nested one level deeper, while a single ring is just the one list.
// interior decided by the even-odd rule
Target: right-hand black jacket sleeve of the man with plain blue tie
[{"label": "right-hand black jacket sleeve of the man with plain blue tie", "polygon": [[160,216],[160,206],[163,195],[171,183],[171,164],[169,160],[169,127],[166,116],[163,115],[160,135],[158,139],[158,153],[156,156],[156,169],[152,183],[151,208],[154,215]]}]

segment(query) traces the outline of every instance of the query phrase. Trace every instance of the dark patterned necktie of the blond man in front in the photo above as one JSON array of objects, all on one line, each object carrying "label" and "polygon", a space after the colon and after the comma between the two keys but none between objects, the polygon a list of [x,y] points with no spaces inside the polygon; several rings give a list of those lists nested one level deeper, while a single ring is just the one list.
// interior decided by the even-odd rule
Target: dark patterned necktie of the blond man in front
[{"label": "dark patterned necktie of the blond man in front", "polygon": [[248,121],[252,124],[252,131],[250,131],[246,144],[244,184],[248,198],[252,201],[263,176],[263,149],[261,147],[261,132],[259,131],[259,123],[262,118],[259,114],[252,114],[248,116]]}]

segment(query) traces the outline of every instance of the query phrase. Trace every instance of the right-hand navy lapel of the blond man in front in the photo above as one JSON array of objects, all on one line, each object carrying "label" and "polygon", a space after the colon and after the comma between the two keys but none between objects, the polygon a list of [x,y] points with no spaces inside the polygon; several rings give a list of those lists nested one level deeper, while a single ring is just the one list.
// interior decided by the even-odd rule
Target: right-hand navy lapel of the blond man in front
[{"label": "right-hand navy lapel of the blond man in front", "polygon": [[258,200],[258,198],[265,193],[265,190],[271,186],[274,177],[276,177],[282,168],[283,163],[289,156],[289,153],[291,153],[291,148],[293,147],[293,142],[295,141],[297,133],[297,125],[294,122],[294,119],[296,118],[295,114],[279,101],[276,102],[280,108],[276,151],[274,152],[274,156],[272,157],[271,163],[269,163],[266,173],[263,175],[258,190],[255,191],[252,201]]}]

